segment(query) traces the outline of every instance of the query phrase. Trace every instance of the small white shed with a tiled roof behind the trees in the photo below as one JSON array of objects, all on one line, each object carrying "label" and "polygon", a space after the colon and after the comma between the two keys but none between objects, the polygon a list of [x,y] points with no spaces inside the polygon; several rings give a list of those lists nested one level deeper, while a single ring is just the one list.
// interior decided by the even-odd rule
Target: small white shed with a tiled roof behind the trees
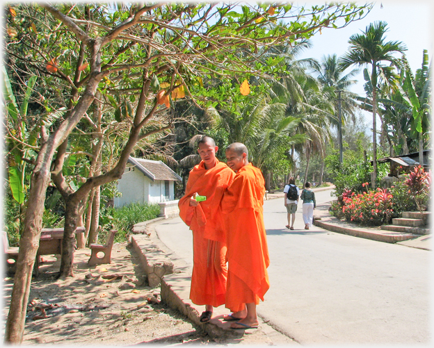
[{"label": "small white shed with a tiled roof behind the trees", "polygon": [[161,160],[145,160],[129,156],[122,178],[118,180],[121,197],[115,197],[114,206],[134,202],[162,203],[175,199],[175,181],[182,181]]}]

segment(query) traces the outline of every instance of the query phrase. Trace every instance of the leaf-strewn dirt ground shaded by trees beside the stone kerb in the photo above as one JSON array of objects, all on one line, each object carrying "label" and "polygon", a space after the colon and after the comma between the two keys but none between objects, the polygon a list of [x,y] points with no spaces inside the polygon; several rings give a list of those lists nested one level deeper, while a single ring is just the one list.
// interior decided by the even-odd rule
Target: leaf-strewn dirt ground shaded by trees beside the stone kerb
[{"label": "leaf-strewn dirt ground shaded by trees beside the stone kerb", "polygon": [[[56,279],[60,258],[42,256],[33,277],[23,345],[215,344],[186,317],[160,303],[128,243],[113,245],[111,264],[89,267],[90,249],[74,253],[74,277]],[[13,275],[3,279],[4,318]],[[4,333],[4,322],[3,322]]]}]

